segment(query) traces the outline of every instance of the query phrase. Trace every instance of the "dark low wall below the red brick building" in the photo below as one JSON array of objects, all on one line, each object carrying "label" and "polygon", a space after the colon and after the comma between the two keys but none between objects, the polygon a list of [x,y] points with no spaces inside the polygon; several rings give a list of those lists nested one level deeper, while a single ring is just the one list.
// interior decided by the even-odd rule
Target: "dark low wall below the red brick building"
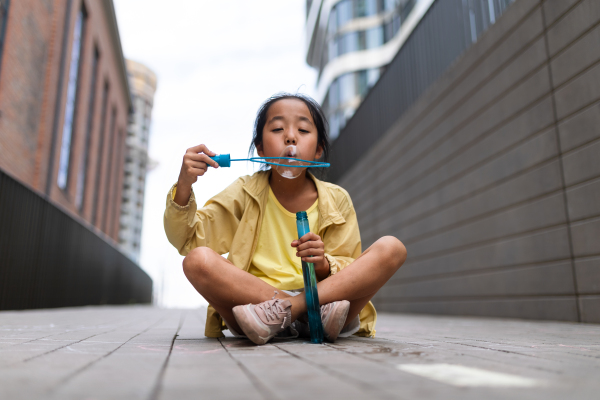
[{"label": "dark low wall below the red brick building", "polygon": [[139,266],[0,171],[0,310],[151,301]]}]

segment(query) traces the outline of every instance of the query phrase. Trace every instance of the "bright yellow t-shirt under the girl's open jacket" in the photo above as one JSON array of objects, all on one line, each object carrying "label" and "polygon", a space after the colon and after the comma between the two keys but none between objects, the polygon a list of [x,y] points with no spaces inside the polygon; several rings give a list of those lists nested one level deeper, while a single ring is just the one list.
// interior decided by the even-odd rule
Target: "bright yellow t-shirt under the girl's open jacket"
[{"label": "bright yellow t-shirt under the girl's open jacket", "polygon": [[[310,231],[315,233],[319,228],[318,203],[317,199],[306,210]],[[296,248],[290,246],[296,239],[298,239],[296,214],[286,210],[269,187],[269,199],[265,207],[258,244],[248,272],[276,289],[303,288],[302,261],[300,257],[296,257]]]}]

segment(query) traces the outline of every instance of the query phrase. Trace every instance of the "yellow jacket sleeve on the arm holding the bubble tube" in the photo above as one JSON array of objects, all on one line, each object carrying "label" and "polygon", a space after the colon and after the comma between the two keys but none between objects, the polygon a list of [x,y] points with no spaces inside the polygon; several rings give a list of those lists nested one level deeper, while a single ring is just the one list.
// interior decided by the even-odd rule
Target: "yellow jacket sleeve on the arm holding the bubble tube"
[{"label": "yellow jacket sleeve on the arm holding the bubble tube", "polygon": [[334,275],[350,265],[362,253],[356,211],[354,211],[350,195],[345,191],[344,194],[341,204],[338,204],[338,209],[345,222],[329,226],[323,238],[330,275]]}]

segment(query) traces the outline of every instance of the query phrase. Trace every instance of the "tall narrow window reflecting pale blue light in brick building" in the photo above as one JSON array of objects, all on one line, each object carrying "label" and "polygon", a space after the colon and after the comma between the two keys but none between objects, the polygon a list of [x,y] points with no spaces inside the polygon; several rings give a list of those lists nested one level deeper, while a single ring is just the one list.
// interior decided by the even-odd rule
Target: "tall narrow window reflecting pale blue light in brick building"
[{"label": "tall narrow window reflecting pale blue light in brick building", "polygon": [[67,102],[65,105],[65,119],[63,123],[62,144],[60,147],[60,161],[58,163],[58,186],[67,188],[69,175],[69,162],[71,159],[71,142],[75,129],[75,116],[77,107],[77,93],[79,70],[81,66],[81,53],[83,48],[83,32],[85,25],[85,10],[79,10],[73,29],[73,44],[71,49],[71,64],[69,66],[69,82],[67,84]]}]

